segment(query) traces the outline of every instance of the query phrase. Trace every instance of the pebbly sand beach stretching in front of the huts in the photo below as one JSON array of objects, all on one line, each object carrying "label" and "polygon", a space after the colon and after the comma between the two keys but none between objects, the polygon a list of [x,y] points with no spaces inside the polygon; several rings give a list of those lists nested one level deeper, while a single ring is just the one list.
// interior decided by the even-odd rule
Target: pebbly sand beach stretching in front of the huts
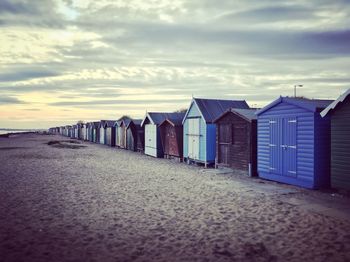
[{"label": "pebbly sand beach stretching in front of the huts", "polygon": [[0,138],[1,261],[350,260],[347,196],[55,140]]}]

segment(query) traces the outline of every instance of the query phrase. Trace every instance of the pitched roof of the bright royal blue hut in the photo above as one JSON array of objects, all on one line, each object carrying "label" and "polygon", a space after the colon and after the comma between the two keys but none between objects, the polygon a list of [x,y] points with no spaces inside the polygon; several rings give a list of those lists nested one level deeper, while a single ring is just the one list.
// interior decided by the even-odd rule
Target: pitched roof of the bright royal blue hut
[{"label": "pitched roof of the bright royal blue hut", "polygon": [[295,97],[279,97],[272,103],[268,104],[264,108],[256,112],[257,115],[264,113],[275,105],[286,102],[288,104],[295,105],[300,108],[304,108],[311,112],[317,112],[326,108],[333,100],[323,100],[323,99],[307,99],[307,98],[295,98]]}]

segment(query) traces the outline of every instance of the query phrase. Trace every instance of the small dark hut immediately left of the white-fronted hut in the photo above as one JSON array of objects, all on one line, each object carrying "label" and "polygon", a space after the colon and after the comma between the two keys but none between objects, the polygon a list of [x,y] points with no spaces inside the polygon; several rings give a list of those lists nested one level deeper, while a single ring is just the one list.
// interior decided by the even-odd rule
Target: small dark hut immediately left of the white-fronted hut
[{"label": "small dark hut immediately left of the white-fronted hut", "polygon": [[[143,137],[143,128],[141,127],[142,119],[132,119],[126,121],[125,137],[126,137],[126,149],[131,151],[137,151],[140,147],[139,139]],[[142,141],[140,141],[142,147]]]}]

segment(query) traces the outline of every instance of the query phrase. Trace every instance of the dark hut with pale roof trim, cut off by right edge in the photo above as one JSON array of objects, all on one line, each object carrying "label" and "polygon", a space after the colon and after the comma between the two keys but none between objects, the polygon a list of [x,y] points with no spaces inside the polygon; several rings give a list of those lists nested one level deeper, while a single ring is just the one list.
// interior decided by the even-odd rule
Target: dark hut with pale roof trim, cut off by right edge
[{"label": "dark hut with pale roof trim, cut off by right edge", "polygon": [[321,116],[331,117],[331,186],[350,190],[350,89]]}]

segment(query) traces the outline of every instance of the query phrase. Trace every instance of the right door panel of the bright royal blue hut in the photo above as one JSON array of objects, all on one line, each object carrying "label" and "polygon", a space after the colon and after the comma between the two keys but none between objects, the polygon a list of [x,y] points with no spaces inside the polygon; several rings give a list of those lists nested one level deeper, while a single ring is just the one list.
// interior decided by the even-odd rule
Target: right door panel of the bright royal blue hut
[{"label": "right door panel of the bright royal blue hut", "polygon": [[297,174],[297,119],[283,120],[283,175],[295,177]]}]

